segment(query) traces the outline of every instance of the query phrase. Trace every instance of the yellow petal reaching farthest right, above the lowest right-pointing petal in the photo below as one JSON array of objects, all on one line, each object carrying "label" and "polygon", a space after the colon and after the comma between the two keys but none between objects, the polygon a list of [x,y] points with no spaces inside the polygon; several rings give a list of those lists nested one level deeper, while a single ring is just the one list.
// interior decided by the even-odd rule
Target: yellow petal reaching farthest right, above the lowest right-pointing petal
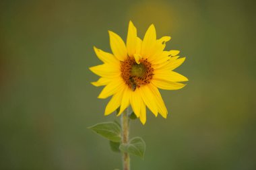
[{"label": "yellow petal reaching farthest right, above the lowest right-pointing petal", "polygon": [[154,79],[172,82],[189,81],[187,77],[174,71],[154,71]]}]

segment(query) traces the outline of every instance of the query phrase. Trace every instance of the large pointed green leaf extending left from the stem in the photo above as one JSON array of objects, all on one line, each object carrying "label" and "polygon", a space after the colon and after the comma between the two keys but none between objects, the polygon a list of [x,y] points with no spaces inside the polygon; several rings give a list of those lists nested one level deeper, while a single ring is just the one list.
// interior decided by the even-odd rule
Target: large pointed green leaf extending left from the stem
[{"label": "large pointed green leaf extending left from the stem", "polygon": [[115,122],[99,123],[89,128],[113,142],[120,142],[121,140],[121,128]]}]

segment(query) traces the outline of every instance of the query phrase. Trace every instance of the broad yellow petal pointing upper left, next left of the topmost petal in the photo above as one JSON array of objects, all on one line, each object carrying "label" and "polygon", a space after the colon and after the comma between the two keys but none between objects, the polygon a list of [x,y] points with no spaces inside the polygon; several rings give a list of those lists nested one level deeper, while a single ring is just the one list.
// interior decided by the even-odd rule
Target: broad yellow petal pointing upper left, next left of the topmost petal
[{"label": "broad yellow petal pointing upper left, next left of the topmost petal", "polygon": [[108,33],[110,38],[110,48],[113,54],[118,60],[125,60],[125,58],[127,58],[125,42],[123,42],[122,38],[114,32],[108,31]]}]

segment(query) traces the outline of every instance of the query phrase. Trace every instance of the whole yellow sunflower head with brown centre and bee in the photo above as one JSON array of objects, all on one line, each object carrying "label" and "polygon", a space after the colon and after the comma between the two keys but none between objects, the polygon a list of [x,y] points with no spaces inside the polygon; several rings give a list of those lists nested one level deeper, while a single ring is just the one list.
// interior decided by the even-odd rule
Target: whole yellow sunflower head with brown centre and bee
[{"label": "whole yellow sunflower head with brown centre and bee", "polygon": [[129,22],[126,45],[120,36],[111,31],[108,33],[113,54],[94,47],[96,55],[104,63],[90,67],[100,76],[92,85],[105,86],[98,98],[106,99],[113,95],[104,114],[111,114],[120,107],[119,116],[131,105],[142,124],[146,123],[146,107],[155,116],[159,113],[166,118],[168,112],[158,88],[176,90],[185,86],[179,82],[188,79],[173,71],[185,57],[179,58],[178,50],[164,50],[170,36],[157,40],[153,24],[141,40],[135,26]]}]

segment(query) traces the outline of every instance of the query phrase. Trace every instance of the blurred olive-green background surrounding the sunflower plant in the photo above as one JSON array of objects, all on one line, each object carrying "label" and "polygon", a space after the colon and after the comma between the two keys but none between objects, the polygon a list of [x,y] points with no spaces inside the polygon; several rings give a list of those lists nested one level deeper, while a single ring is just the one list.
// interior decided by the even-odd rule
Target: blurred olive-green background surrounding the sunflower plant
[{"label": "blurred olive-green background surrounding the sunflower plant", "polygon": [[166,49],[187,56],[189,78],[161,91],[166,120],[131,123],[146,140],[131,169],[256,169],[254,1],[0,1],[0,169],[121,169],[107,140],[87,129],[105,117],[92,46],[110,51],[131,19],[155,24]]}]

